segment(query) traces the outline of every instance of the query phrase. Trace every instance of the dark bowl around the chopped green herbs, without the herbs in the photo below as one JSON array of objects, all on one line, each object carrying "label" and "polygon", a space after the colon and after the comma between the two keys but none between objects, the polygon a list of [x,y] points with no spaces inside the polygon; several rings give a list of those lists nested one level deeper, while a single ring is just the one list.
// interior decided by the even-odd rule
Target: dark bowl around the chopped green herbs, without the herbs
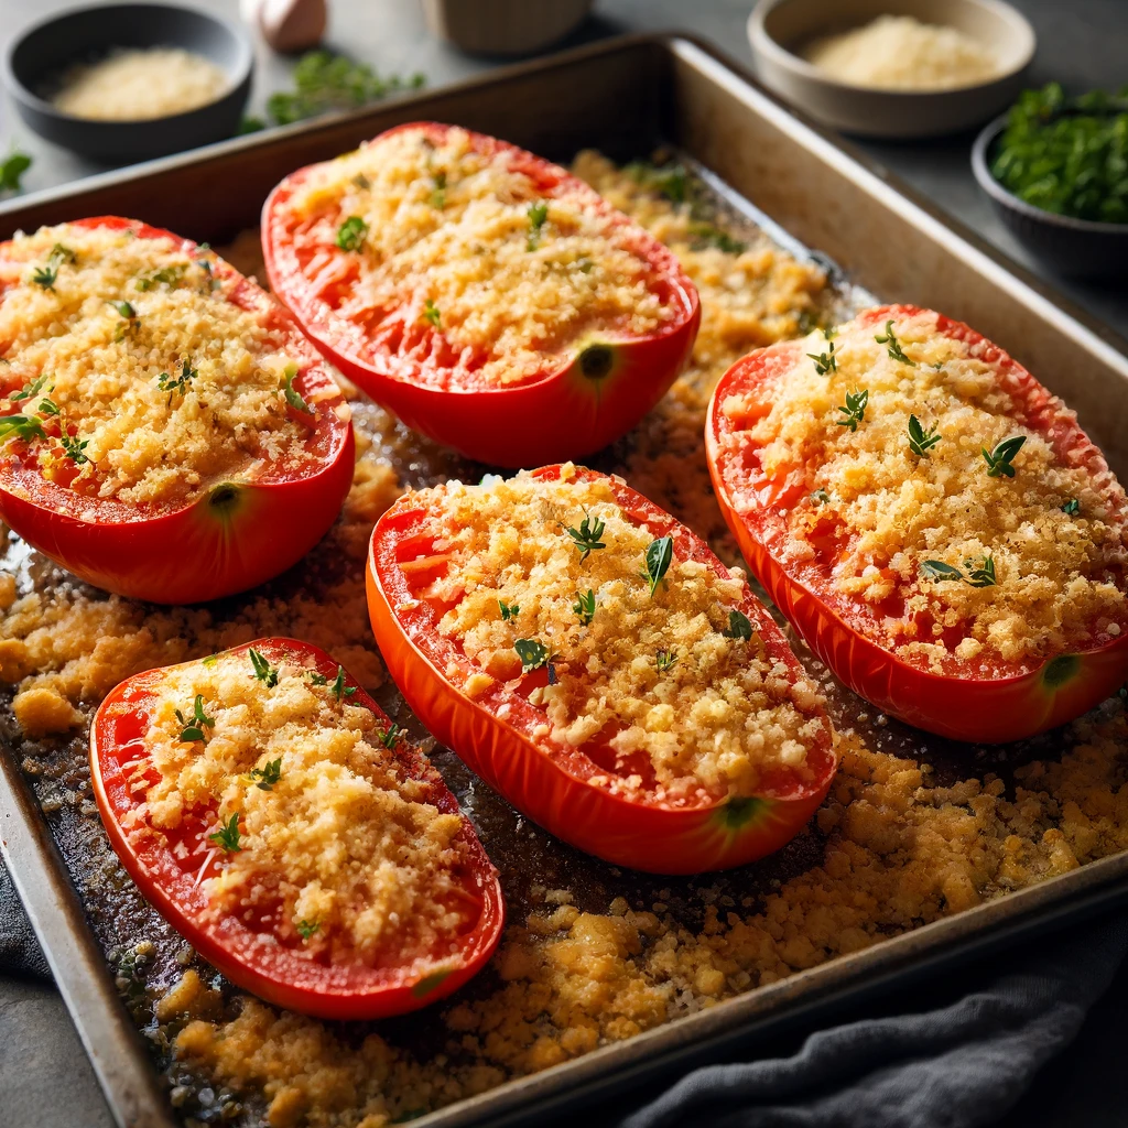
[{"label": "dark bowl around the chopped green herbs, without the herbs", "polygon": [[1057,215],[1028,204],[992,176],[995,142],[1006,129],[997,117],[976,138],[971,169],[998,218],[1040,263],[1077,279],[1112,279],[1128,274],[1128,223],[1098,223]]}]

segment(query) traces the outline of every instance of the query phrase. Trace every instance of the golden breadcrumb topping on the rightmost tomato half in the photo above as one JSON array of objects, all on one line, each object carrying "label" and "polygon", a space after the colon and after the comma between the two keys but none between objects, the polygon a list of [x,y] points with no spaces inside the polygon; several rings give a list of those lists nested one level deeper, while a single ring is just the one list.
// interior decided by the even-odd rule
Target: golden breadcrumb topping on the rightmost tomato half
[{"label": "golden breadcrumb topping on the rightmost tomato half", "polygon": [[[785,564],[830,575],[872,608],[867,633],[936,672],[968,660],[1013,672],[1112,641],[1128,620],[1123,490],[1026,425],[984,344],[938,333],[931,311],[892,331],[811,334],[763,387],[720,405],[741,429],[730,441],[751,441],[782,492]],[[810,356],[831,346],[820,371]],[[851,424],[847,397],[862,391]],[[1074,420],[1059,400],[1050,409]],[[935,437],[923,453],[914,415]],[[992,474],[987,456],[1008,440],[1010,474]]]}]

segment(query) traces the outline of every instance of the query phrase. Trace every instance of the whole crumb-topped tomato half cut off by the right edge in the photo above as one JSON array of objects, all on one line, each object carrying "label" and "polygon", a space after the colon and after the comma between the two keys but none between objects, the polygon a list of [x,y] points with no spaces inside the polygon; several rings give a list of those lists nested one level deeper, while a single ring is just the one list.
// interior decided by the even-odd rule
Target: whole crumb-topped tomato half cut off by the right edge
[{"label": "whole crumb-topped tomato half cut off by the right edge", "polygon": [[713,484],[834,672],[909,724],[1017,740],[1128,677],[1128,505],[1073,412],[911,306],[761,349],[713,395]]}]

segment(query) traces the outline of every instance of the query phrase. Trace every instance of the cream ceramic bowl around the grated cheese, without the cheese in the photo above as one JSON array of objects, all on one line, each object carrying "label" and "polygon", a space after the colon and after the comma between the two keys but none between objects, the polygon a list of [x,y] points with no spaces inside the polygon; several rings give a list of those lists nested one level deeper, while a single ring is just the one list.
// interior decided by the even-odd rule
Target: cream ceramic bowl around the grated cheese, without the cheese
[{"label": "cream ceramic bowl around the grated cheese, without the cheese", "polygon": [[[967,33],[995,52],[997,77],[949,90],[875,90],[838,81],[797,54],[811,39],[883,15]],[[846,133],[890,139],[955,133],[998,114],[1022,89],[1036,45],[1025,17],[1001,0],[760,0],[748,38],[760,79],[781,97]]]}]

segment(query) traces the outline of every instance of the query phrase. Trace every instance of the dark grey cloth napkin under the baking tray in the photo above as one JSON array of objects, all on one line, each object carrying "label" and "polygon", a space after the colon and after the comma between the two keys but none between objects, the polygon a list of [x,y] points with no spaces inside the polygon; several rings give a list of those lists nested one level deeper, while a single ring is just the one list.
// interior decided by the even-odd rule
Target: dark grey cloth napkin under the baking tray
[{"label": "dark grey cloth napkin under the baking tray", "polygon": [[[993,1123],[1073,1041],[1126,954],[1126,915],[1034,940],[953,1002],[830,1026],[791,1057],[697,1069],[619,1128]],[[0,972],[50,977],[2,865]]]}]

